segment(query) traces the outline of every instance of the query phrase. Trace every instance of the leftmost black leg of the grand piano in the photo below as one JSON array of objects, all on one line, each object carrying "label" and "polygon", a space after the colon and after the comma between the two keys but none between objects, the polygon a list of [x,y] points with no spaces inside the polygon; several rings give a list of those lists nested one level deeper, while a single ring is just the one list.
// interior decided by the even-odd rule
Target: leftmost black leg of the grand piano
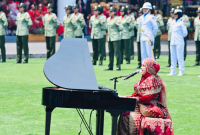
[{"label": "leftmost black leg of the grand piano", "polygon": [[46,124],[45,124],[45,135],[50,135],[50,125],[51,125],[51,112],[53,107],[46,107]]}]

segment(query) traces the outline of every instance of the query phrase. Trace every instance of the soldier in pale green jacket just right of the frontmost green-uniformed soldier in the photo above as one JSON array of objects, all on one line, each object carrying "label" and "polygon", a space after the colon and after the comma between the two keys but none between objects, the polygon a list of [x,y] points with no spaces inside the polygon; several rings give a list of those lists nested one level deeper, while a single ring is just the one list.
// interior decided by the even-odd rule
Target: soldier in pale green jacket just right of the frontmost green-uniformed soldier
[{"label": "soldier in pale green jacket just right of the frontmost green-uniformed soldier", "polygon": [[[120,10],[127,14],[127,9],[125,7],[122,7]],[[133,28],[132,19],[128,17],[127,15],[120,16],[121,24],[123,25],[123,30],[120,32],[121,34],[121,64],[123,64],[123,53],[126,54],[126,63],[130,64],[130,27]]]}]

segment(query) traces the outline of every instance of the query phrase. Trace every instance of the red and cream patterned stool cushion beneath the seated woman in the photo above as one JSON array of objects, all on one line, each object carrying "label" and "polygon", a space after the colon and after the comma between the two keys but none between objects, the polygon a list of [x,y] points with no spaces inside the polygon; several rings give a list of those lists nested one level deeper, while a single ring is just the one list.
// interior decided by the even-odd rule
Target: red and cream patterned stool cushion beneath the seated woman
[{"label": "red and cream patterned stool cushion beneath the seated woman", "polygon": [[170,119],[144,117],[141,129],[148,130],[152,135],[173,135],[173,125]]}]

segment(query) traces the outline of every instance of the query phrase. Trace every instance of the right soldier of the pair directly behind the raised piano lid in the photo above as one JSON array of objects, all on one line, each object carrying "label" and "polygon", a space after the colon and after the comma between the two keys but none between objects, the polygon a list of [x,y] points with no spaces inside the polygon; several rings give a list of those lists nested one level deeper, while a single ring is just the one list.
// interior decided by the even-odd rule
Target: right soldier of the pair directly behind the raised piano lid
[{"label": "right soldier of the pair directly behind the raised piano lid", "polygon": [[[73,8],[79,8],[79,5],[74,4]],[[85,27],[85,20],[84,17],[81,13],[73,13],[71,15],[72,18],[72,23],[77,25],[77,29],[75,30],[75,36],[76,38],[82,38],[82,34],[83,34],[83,28]]]}]

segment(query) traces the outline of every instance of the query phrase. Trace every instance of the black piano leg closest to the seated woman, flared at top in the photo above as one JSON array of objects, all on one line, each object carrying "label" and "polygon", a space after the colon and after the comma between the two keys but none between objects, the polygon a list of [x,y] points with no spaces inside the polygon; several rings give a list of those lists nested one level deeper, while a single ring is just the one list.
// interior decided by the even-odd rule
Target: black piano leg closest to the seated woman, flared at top
[{"label": "black piano leg closest to the seated woman, flared at top", "polygon": [[124,113],[124,111],[115,111],[115,110],[106,110],[107,112],[110,113],[110,115],[112,116],[112,133],[111,135],[116,135],[117,134],[117,120],[118,120],[118,116],[121,113]]}]

